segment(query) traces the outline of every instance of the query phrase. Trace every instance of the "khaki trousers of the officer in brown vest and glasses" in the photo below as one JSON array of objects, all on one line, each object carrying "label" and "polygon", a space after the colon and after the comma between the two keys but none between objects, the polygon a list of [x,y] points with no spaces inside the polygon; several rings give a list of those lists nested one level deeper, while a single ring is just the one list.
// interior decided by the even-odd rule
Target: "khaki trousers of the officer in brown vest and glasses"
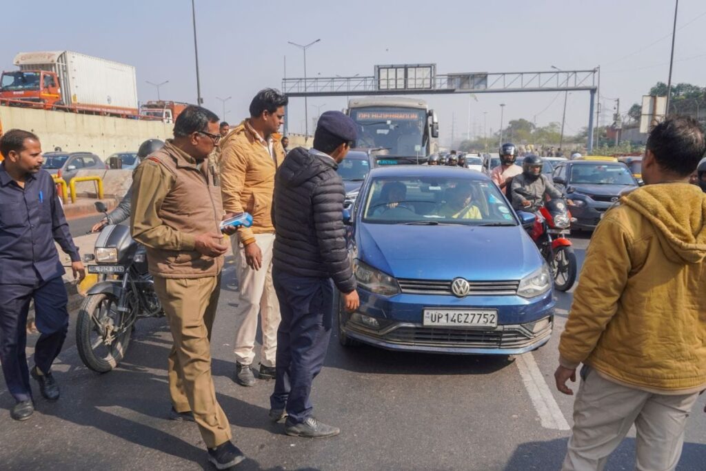
[{"label": "khaki trousers of the officer in brown vest and glasses", "polygon": [[215,448],[232,436],[211,378],[210,338],[220,295],[220,276],[155,277],[155,292],[174,338],[169,352],[169,394],[174,410],[191,410],[203,442],[208,448]]}]

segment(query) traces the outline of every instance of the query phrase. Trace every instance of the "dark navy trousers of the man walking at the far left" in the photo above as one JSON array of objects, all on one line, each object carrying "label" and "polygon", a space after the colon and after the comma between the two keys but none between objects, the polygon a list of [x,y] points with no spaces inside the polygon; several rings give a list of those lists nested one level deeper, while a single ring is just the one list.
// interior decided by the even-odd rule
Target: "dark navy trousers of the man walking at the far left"
[{"label": "dark navy trousers of the man walking at the far left", "polygon": [[0,285],[0,360],[5,383],[18,401],[32,399],[27,346],[27,315],[35,301],[35,323],[41,335],[35,346],[35,365],[43,373],[61,352],[68,331],[68,294],[61,277],[35,285]]}]

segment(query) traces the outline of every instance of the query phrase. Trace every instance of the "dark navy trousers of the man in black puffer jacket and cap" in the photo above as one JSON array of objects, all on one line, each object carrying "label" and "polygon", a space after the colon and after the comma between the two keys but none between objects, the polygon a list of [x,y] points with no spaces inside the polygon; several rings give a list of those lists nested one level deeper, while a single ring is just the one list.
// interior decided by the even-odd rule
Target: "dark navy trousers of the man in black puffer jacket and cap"
[{"label": "dark navy trousers of the man in black puffer jacket and cap", "polygon": [[273,269],[282,321],[277,330],[277,378],[273,409],[285,409],[287,422],[304,422],[311,405],[311,383],[321,371],[331,337],[333,282]]}]

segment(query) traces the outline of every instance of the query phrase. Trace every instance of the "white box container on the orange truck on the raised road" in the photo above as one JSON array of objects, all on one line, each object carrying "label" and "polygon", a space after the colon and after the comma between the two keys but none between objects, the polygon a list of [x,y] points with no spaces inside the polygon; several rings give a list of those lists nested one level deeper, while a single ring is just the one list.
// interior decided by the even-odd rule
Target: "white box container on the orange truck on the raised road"
[{"label": "white box container on the orange truck on the raised road", "polygon": [[138,114],[135,68],[72,51],[20,52],[20,71],[50,71],[59,79],[61,103],[78,112]]}]

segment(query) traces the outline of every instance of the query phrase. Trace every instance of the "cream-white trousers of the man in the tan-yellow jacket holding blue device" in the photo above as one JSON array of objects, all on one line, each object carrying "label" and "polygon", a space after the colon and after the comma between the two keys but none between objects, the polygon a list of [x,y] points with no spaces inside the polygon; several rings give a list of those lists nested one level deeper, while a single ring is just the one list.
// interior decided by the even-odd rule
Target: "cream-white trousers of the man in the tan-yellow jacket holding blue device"
[{"label": "cream-white trousers of the man in the tan-yellow jacket holding blue device", "polygon": [[255,358],[255,336],[258,313],[263,331],[261,363],[275,366],[277,328],[280,326],[280,302],[272,282],[272,257],[275,234],[255,234],[255,242],[263,253],[260,270],[253,270],[245,259],[240,237],[231,237],[233,253],[237,254],[240,298],[235,311],[234,353],[239,364],[252,364]]}]

